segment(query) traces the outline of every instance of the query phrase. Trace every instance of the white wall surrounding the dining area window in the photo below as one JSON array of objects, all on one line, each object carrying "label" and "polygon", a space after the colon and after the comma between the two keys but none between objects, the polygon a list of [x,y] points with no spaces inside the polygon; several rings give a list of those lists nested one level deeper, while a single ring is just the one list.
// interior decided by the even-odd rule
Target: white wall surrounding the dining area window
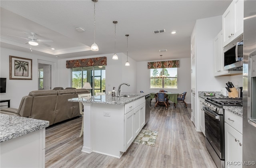
[{"label": "white wall surrounding the dining area window", "polygon": [[[165,90],[173,93],[183,93],[186,91],[186,103],[191,103],[190,58],[182,58],[178,60],[180,60],[180,67],[178,68],[178,89]],[[137,71],[137,92],[144,91],[146,93],[159,91],[159,89],[150,89],[150,69],[148,69],[148,61],[138,62]]]}]

